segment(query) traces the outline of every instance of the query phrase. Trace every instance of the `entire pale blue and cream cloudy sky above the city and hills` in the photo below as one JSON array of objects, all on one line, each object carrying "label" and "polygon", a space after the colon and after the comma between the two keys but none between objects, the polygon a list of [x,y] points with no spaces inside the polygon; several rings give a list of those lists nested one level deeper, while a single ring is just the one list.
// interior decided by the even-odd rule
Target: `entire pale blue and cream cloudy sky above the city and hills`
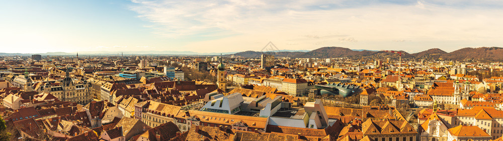
[{"label": "entire pale blue and cream cloudy sky above the city and hills", "polygon": [[503,47],[503,1],[0,1],[0,52]]}]

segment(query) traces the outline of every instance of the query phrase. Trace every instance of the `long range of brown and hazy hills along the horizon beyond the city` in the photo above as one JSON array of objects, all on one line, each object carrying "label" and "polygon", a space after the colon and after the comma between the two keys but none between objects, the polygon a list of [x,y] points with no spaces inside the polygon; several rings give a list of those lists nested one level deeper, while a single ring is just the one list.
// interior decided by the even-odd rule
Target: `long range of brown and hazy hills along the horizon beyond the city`
[{"label": "long range of brown and hazy hills along the horizon beyond the city", "polygon": [[[499,47],[480,47],[480,48],[463,48],[450,53],[441,49],[434,48],[426,51],[409,54],[405,51],[402,52],[402,58],[415,58],[415,59],[439,59],[443,60],[465,60],[465,59],[479,59],[487,61],[503,61],[503,48]],[[0,56],[31,56],[33,54],[50,55],[50,56],[74,56],[77,52],[47,52],[47,53],[0,53]],[[225,52],[225,53],[197,53],[192,51],[125,51],[125,52],[78,52],[79,55],[224,55],[245,58],[259,58],[264,52],[257,51],[244,51],[244,52]],[[308,50],[278,50],[272,52],[265,52],[273,54],[277,58],[291,57],[291,58],[341,58],[341,57],[365,57],[368,59],[397,59],[398,55],[384,51],[372,50],[352,50],[343,47],[322,47],[312,51]]]}]

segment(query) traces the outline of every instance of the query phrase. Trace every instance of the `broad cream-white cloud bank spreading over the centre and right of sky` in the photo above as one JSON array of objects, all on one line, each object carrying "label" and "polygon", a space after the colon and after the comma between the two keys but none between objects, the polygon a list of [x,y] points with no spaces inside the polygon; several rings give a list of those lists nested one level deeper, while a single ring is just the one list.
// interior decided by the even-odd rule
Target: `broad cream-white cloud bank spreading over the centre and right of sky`
[{"label": "broad cream-white cloud bank spreading over the centre and right of sky", "polygon": [[345,0],[133,2],[136,5],[131,10],[151,22],[148,26],[156,29],[156,34],[193,38],[194,42],[183,48],[201,52],[260,50],[269,41],[279,49],[342,46],[392,50],[428,45],[452,51],[503,44],[499,40],[503,27],[498,24],[503,22],[503,10],[484,7],[492,1],[474,7],[463,5],[471,4],[469,1],[372,5]]}]

